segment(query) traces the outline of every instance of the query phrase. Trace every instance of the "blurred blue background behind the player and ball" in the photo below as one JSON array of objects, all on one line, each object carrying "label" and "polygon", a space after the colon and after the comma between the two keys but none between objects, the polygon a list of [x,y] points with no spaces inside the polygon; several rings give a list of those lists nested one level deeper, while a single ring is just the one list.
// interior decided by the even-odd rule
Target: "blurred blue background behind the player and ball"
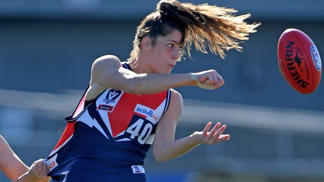
[{"label": "blurred blue background behind the player and ball", "polygon": [[[181,2],[183,2],[181,0]],[[216,91],[177,88],[184,99],[176,139],[207,121],[228,125],[229,142],[198,146],[165,163],[149,151],[148,182],[323,182],[324,83],[311,94],[281,76],[277,43],[287,28],[324,54],[322,0],[191,0],[250,12],[258,32],[225,60],[192,48],[173,73],[216,69]],[[0,134],[28,166],[46,158],[90,79],[92,62],[126,60],[136,26],[158,0],[0,0]],[[0,173],[0,181],[9,181]]]}]

